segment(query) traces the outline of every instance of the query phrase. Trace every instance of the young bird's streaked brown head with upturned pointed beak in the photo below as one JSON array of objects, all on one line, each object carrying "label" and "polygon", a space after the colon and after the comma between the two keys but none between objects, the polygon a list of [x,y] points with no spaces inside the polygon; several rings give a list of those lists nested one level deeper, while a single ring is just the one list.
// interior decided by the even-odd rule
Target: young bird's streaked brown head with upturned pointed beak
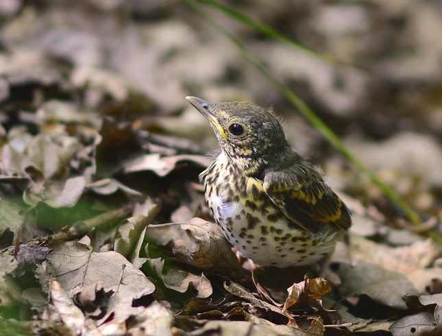
[{"label": "young bird's streaked brown head with upturned pointed beak", "polygon": [[230,162],[246,173],[260,173],[290,150],[281,124],[265,108],[239,101],[212,104],[197,97],[186,99],[209,121]]}]

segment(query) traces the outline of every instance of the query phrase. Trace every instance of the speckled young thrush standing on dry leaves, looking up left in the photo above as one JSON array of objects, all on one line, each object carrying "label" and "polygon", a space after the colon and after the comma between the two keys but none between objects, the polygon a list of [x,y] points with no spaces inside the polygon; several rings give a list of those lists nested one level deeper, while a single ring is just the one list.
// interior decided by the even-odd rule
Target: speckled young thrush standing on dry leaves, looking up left
[{"label": "speckled young thrush standing on dry leaves, looking up left", "polygon": [[188,96],[221,146],[199,174],[223,236],[257,267],[320,263],[352,225],[321,173],[288,143],[281,123],[255,104]]}]

